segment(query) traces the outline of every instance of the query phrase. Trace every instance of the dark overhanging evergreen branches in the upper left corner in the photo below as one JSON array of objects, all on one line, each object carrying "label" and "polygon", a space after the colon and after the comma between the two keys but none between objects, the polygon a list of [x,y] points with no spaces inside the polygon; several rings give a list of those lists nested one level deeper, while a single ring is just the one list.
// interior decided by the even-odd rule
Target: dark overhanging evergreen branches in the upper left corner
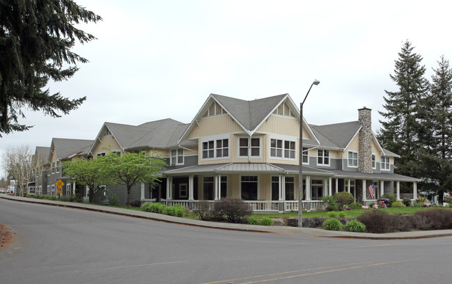
[{"label": "dark overhanging evergreen branches in the upper left corner", "polygon": [[75,27],[102,18],[72,0],[0,1],[0,134],[24,131],[18,123],[23,108],[60,117],[77,109],[86,97],[70,100],[45,88],[49,79],[72,77],[77,62],[86,58],[71,52],[78,40],[95,39]]}]

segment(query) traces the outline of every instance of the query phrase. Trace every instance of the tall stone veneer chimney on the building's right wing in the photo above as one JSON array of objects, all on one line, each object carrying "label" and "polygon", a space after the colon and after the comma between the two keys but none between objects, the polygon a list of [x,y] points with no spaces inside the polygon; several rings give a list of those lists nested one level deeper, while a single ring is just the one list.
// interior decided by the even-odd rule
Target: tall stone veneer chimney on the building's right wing
[{"label": "tall stone veneer chimney on the building's right wing", "polygon": [[372,109],[358,109],[358,122],[362,125],[358,139],[358,171],[372,173]]}]

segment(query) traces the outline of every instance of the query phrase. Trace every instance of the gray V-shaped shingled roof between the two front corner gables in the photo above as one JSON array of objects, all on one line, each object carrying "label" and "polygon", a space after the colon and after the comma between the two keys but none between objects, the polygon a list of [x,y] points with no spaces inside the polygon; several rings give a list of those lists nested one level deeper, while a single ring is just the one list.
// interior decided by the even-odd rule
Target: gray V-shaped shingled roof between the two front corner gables
[{"label": "gray V-shaped shingled roof between the two front corner gables", "polygon": [[253,131],[270,114],[287,94],[265,97],[259,100],[245,101],[212,94],[237,121],[249,131]]}]

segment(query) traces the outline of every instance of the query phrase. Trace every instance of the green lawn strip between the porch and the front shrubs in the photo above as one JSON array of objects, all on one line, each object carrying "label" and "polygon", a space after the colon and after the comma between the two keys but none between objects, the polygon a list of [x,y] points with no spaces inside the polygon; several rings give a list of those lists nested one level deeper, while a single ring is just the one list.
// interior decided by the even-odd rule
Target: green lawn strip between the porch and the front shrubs
[{"label": "green lawn strip between the porch and the front shrubs", "polygon": [[[394,215],[407,215],[407,214],[414,214],[414,212],[418,210],[426,210],[429,207],[391,207],[391,208],[382,208],[378,210],[386,211],[389,214]],[[430,207],[431,208],[431,207]],[[369,210],[375,210],[375,209],[355,209],[355,210],[345,210],[343,211],[345,213],[345,218],[354,218],[361,214],[363,214],[366,211]],[[338,212],[336,212],[338,213]],[[259,217],[274,217],[274,218],[283,218],[283,217],[297,217],[298,212],[291,212],[286,214],[278,214],[278,213],[271,213],[271,214],[253,214],[253,216],[259,218]],[[328,212],[304,212],[303,217],[328,217]]]}]

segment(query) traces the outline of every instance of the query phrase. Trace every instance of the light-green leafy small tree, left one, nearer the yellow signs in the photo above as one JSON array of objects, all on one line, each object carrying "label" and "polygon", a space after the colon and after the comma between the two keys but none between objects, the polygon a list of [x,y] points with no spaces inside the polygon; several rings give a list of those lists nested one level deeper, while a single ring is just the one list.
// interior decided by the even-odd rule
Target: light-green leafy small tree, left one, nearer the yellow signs
[{"label": "light-green leafy small tree, left one, nearer the yellow signs", "polygon": [[113,183],[113,180],[104,171],[105,159],[77,159],[64,163],[66,168],[63,174],[76,182],[89,188],[89,202],[94,203],[94,194],[102,186]]}]

